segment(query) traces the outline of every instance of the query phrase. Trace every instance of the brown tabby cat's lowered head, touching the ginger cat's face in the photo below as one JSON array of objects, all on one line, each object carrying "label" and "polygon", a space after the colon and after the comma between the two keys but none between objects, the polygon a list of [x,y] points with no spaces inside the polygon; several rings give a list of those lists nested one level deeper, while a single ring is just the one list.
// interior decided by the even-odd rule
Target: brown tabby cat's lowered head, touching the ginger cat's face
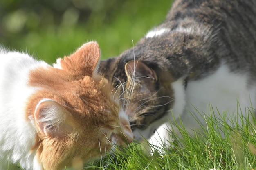
[{"label": "brown tabby cat's lowered head, touching the ginger cat's face", "polygon": [[143,56],[136,54],[136,50],[135,47],[118,57],[101,61],[99,70],[112,82],[113,91],[125,98],[132,129],[146,129],[170,111],[174,96],[170,86],[173,76],[155,65],[132,59],[133,52],[137,57]]}]

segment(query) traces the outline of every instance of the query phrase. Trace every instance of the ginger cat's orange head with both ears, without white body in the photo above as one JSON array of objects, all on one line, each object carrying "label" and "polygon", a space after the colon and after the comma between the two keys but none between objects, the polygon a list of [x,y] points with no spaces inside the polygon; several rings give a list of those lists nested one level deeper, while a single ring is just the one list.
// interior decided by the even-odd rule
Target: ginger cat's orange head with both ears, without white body
[{"label": "ginger cat's orange head with both ears, without white body", "polygon": [[83,168],[115,145],[126,146],[133,135],[112,86],[97,74],[96,42],[58,59],[54,67],[31,70],[27,117],[37,131],[33,151],[44,169]]}]

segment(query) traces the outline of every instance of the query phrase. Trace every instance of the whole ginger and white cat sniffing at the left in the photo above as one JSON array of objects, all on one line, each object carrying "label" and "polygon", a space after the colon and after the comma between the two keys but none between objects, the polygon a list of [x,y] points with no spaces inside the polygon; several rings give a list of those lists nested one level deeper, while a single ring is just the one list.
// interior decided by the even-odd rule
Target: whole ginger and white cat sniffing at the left
[{"label": "whole ginger and white cat sniffing at the left", "polygon": [[0,170],[83,168],[133,135],[112,86],[97,74],[96,42],[54,67],[0,48]]}]

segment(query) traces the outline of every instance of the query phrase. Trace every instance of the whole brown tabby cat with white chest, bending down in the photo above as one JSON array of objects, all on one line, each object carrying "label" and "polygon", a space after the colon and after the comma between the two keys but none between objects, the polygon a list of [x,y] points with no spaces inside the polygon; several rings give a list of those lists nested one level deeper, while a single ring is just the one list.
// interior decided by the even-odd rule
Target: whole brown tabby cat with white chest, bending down
[{"label": "whole brown tabby cat with white chest, bending down", "polygon": [[228,111],[241,123],[256,107],[256,1],[176,0],[162,24],[100,70],[129,101],[137,140],[164,147],[179,135],[172,122],[192,133],[206,126],[202,113]]}]

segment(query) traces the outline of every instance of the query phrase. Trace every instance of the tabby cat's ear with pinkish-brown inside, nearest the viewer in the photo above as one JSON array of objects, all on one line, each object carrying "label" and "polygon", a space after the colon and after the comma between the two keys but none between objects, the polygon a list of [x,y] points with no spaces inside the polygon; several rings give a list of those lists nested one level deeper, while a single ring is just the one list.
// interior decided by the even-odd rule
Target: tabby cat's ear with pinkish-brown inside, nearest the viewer
[{"label": "tabby cat's ear with pinkish-brown inside, nearest the viewer", "polygon": [[148,81],[157,81],[157,74],[141,61],[131,60],[125,65],[125,72],[128,79],[136,78]]}]

